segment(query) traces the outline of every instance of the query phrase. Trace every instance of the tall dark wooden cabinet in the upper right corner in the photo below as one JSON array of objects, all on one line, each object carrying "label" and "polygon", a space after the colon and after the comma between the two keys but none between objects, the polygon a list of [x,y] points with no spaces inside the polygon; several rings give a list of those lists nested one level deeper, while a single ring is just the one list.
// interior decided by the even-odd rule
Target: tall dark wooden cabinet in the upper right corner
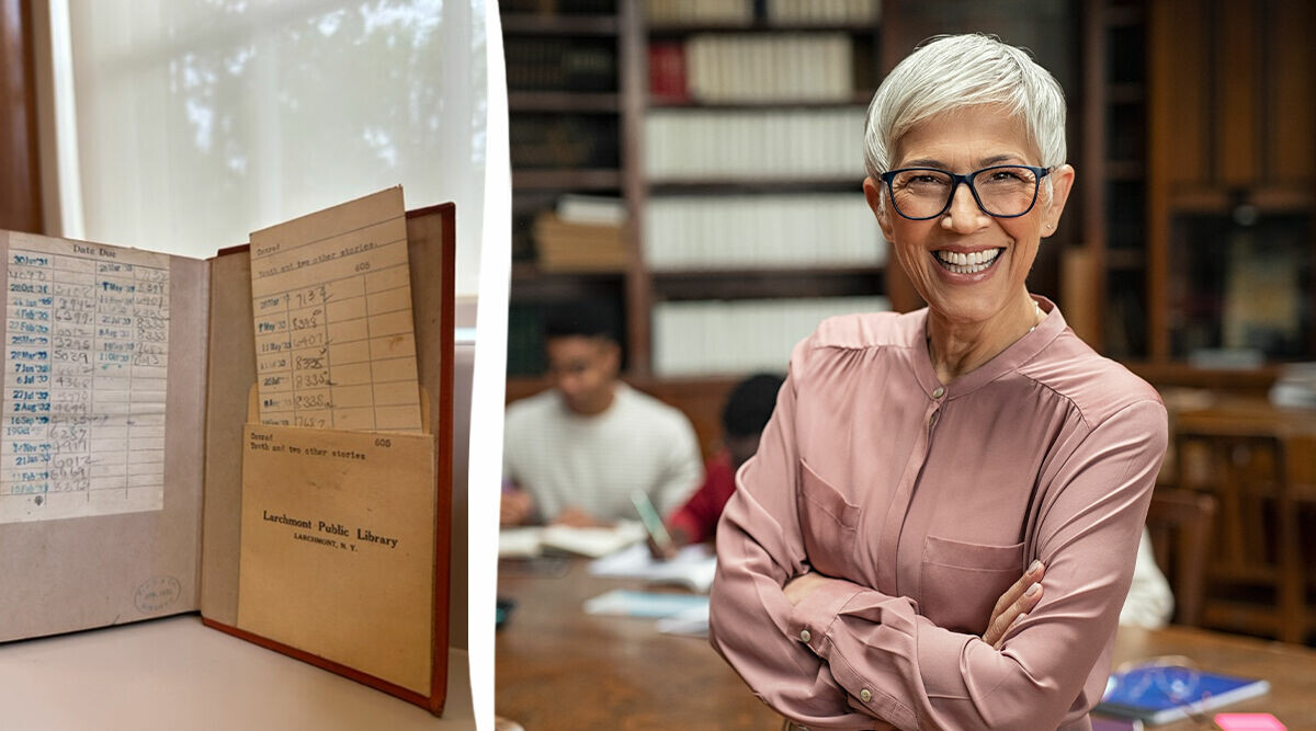
[{"label": "tall dark wooden cabinet in the upper right corner", "polygon": [[1148,5],[1153,362],[1316,358],[1316,5]]}]

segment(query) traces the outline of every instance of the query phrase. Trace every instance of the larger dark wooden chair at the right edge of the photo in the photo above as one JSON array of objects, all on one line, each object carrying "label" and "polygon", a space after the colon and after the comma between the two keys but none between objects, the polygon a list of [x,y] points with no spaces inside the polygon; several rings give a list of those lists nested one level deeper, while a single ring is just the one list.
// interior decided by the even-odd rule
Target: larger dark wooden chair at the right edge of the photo
[{"label": "larger dark wooden chair at the right edge of the photo", "polygon": [[1291,486],[1283,435],[1180,429],[1175,448],[1179,486],[1219,502],[1203,626],[1305,642],[1316,615],[1307,613],[1300,519],[1311,505]]}]

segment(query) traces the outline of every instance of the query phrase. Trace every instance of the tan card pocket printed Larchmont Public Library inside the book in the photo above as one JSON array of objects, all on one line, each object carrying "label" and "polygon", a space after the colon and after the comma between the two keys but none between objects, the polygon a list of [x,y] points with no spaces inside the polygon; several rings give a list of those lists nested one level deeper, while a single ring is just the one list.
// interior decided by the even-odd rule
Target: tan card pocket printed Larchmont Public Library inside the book
[{"label": "tan card pocket printed Larchmont Public Library inside the book", "polygon": [[433,436],[243,436],[238,627],[428,694]]}]

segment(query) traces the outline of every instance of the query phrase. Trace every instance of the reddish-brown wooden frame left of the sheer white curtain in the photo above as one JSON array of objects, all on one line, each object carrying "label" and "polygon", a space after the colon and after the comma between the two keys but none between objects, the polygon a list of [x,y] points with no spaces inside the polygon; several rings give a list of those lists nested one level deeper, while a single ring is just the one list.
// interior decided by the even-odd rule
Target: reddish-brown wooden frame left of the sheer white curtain
[{"label": "reddish-brown wooden frame left of the sheer white curtain", "polygon": [[32,4],[0,0],[0,229],[42,233]]}]

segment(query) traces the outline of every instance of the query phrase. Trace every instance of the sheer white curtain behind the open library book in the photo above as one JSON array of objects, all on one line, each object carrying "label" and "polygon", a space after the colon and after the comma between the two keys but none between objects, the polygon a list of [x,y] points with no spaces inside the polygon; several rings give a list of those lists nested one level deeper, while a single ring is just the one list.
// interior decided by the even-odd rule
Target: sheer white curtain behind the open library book
[{"label": "sheer white curtain behind the open library book", "polygon": [[400,183],[408,208],[457,202],[478,291],[482,0],[50,4],[66,235],[208,256]]}]

